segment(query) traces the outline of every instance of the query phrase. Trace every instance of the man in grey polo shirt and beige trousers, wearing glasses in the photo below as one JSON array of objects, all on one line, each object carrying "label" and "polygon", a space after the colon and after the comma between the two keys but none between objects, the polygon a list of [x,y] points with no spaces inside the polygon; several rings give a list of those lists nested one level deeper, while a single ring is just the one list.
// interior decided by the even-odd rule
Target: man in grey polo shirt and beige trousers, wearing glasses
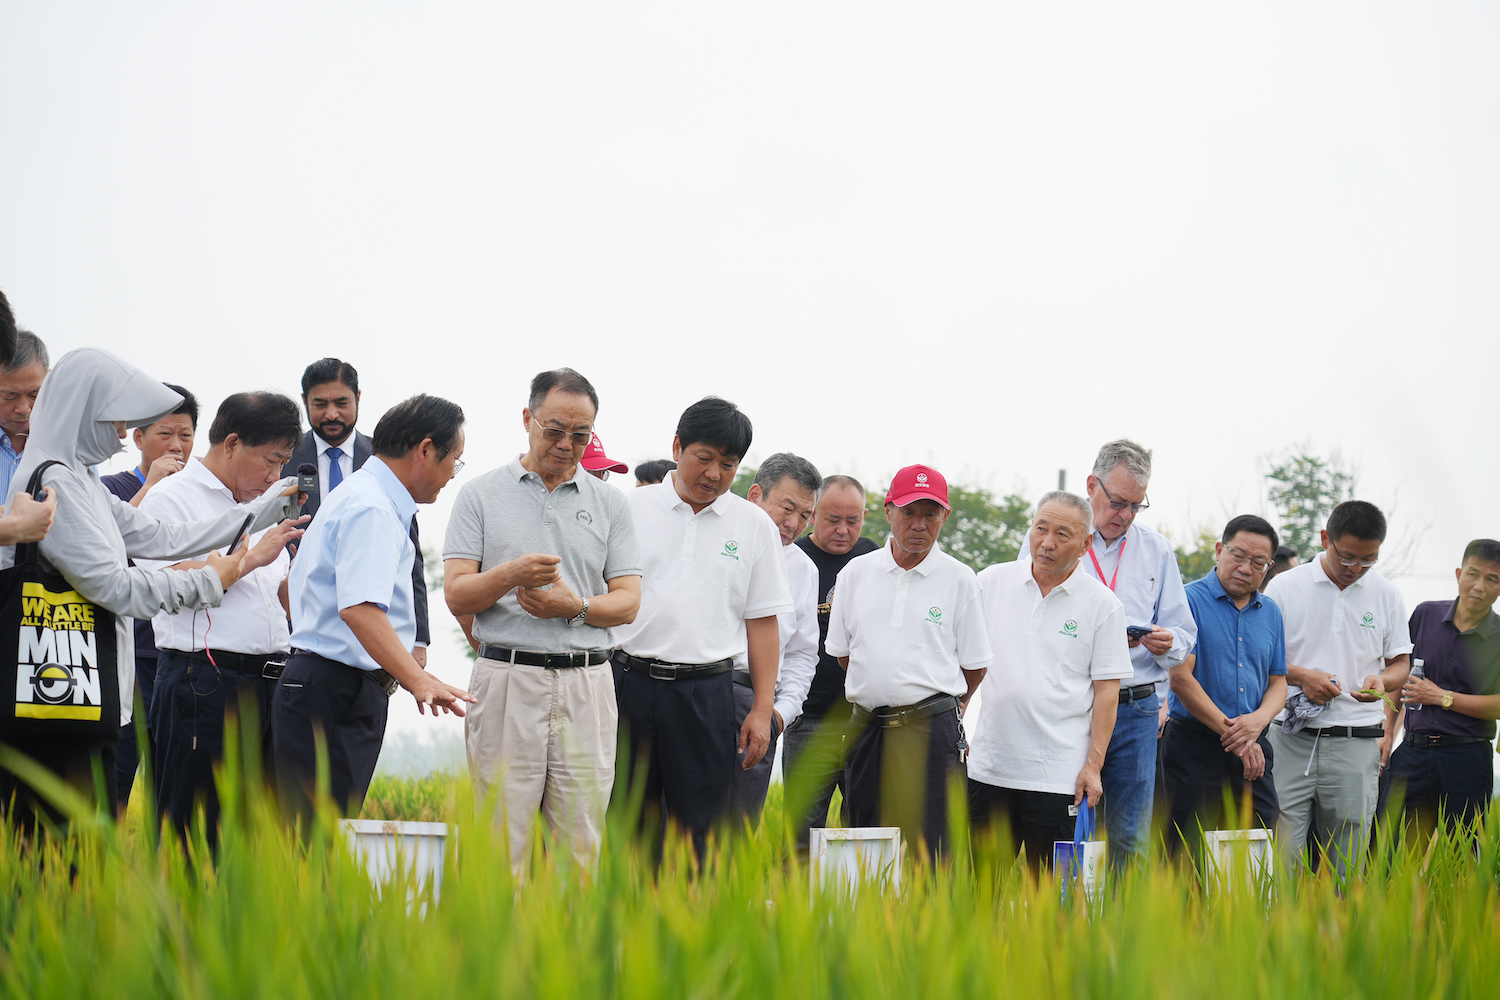
[{"label": "man in grey polo shirt and beige trousers, wearing glasses", "polygon": [[609,627],[634,621],[640,558],[626,495],[579,463],[598,394],[572,369],[531,379],[525,454],[459,492],[442,546],[448,610],[474,616],[478,703],[464,724],[478,798],[498,783],[512,865],[537,810],[580,864],[615,780]]}]

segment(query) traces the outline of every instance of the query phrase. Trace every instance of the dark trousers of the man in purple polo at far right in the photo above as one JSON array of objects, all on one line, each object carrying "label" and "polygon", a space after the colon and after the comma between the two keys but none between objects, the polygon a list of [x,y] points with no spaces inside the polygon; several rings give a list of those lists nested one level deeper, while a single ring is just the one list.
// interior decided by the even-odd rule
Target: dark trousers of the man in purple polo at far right
[{"label": "dark trousers of the man in purple polo at far right", "polygon": [[1419,816],[1437,826],[1442,808],[1449,829],[1482,819],[1494,792],[1494,748],[1488,742],[1458,747],[1418,747],[1407,741],[1390,754],[1389,789],[1377,813],[1386,811],[1389,795],[1401,796],[1402,816]]}]

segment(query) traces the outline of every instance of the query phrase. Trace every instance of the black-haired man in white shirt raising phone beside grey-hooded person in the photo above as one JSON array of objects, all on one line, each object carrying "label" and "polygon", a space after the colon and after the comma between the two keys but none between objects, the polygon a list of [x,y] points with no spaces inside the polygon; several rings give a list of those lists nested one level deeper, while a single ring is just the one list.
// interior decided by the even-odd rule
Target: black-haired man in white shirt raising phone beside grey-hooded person
[{"label": "black-haired man in white shirt raising phone beside grey-hooded person", "polygon": [[[158,520],[214,517],[276,484],[302,436],[297,403],[280,393],[236,393],[219,405],[208,429],[208,451],[152,489],[141,511]],[[159,613],[152,625],[160,651],[150,705],[152,778],[156,823],[170,817],[186,834],[201,804],[208,843],[218,837],[219,799],[213,769],[224,759],[226,718],[238,718],[258,747],[266,778],[272,762],[272,694],[291,651],[286,630],[286,543],[298,538],[306,516],[252,535],[244,573],[213,612]],[[242,525],[230,552],[244,537]],[[207,553],[204,553],[207,555]],[[153,570],[166,562],[138,561]],[[207,565],[200,558],[172,568]]]}]

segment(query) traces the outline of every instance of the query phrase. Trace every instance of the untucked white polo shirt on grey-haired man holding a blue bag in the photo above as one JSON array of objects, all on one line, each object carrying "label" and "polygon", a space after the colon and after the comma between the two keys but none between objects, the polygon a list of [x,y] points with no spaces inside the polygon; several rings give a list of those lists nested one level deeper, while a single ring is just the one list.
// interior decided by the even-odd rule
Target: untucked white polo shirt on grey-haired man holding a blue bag
[{"label": "untucked white polo shirt on grey-haired man holding a blue bag", "polygon": [[1130,678],[1125,607],[1083,565],[1041,595],[1030,559],[980,573],[990,646],[969,777],[1000,789],[1072,795],[1089,756],[1094,682]]}]

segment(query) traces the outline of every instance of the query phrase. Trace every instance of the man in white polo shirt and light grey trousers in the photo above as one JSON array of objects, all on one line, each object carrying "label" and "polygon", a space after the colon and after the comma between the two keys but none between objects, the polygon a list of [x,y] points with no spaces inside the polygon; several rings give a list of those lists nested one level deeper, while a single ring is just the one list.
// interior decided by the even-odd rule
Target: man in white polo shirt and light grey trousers
[{"label": "man in white polo shirt and light grey trousers", "polygon": [[[1358,871],[1370,843],[1386,736],[1382,697],[1406,684],[1412,652],[1401,592],[1370,571],[1384,537],[1374,504],[1346,501],[1328,517],[1323,555],[1266,589],[1287,630],[1287,709],[1269,739],[1281,805],[1276,850],[1288,870],[1314,819],[1340,873]],[[1299,718],[1305,711],[1292,711],[1299,694],[1322,711]]]}]

